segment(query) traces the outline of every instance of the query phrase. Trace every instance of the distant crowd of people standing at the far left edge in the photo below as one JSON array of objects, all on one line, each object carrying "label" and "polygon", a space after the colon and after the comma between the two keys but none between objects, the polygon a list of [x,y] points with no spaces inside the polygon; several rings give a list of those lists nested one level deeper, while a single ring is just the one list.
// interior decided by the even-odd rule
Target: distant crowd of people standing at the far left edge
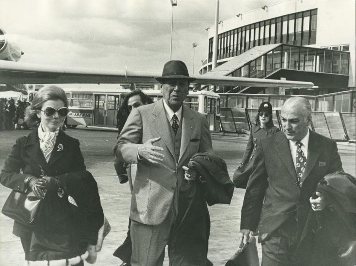
[{"label": "distant crowd of people standing at the far left edge", "polygon": [[9,98],[0,98],[0,131],[29,129],[25,118],[25,110],[31,103]]}]

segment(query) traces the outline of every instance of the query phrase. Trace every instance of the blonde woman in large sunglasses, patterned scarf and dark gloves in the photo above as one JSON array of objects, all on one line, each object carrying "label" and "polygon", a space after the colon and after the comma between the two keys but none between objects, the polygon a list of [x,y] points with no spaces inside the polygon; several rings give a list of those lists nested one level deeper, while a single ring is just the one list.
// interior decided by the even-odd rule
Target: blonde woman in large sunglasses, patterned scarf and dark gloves
[{"label": "blonde woman in large sunglasses, patterned scarf and dark gloves", "polygon": [[41,199],[32,223],[14,223],[13,233],[21,239],[26,265],[39,265],[38,261],[84,265],[84,259],[96,260],[104,214],[78,139],[61,130],[67,114],[63,89],[41,88],[26,108],[25,121],[35,130],[16,140],[0,174],[2,185],[18,192],[32,191]]}]

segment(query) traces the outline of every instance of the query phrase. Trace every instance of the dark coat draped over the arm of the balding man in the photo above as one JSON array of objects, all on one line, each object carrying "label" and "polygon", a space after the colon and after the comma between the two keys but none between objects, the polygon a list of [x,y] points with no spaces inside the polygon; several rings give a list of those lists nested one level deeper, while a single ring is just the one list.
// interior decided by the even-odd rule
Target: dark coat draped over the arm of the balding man
[{"label": "dark coat draped over the arm of the balding man", "polygon": [[310,210],[302,238],[315,234],[312,265],[356,265],[356,184],[344,174],[331,174],[320,180],[316,191],[329,206]]}]

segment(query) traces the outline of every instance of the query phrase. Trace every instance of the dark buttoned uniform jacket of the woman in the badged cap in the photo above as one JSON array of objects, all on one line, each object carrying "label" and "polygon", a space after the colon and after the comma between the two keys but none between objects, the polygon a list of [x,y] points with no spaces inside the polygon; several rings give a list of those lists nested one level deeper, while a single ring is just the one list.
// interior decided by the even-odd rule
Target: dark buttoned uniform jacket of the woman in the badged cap
[{"label": "dark buttoned uniform jacket of the woman in the badged cap", "polygon": [[250,137],[248,138],[246,150],[244,152],[244,156],[242,156],[241,163],[246,164],[248,161],[253,159],[253,155],[255,155],[257,150],[258,142],[268,137],[269,135],[273,135],[274,133],[280,131],[278,127],[271,128],[261,128],[260,126],[252,126]]}]

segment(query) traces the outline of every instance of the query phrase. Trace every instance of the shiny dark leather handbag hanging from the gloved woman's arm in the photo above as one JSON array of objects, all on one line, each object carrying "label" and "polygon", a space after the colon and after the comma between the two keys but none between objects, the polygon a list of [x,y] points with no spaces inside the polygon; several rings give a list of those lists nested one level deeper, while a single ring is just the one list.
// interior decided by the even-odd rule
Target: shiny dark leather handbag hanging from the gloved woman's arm
[{"label": "shiny dark leather handbag hanging from the gloved woman's arm", "polygon": [[30,190],[27,193],[11,191],[1,212],[15,221],[30,225],[38,214],[42,198],[37,198]]}]

